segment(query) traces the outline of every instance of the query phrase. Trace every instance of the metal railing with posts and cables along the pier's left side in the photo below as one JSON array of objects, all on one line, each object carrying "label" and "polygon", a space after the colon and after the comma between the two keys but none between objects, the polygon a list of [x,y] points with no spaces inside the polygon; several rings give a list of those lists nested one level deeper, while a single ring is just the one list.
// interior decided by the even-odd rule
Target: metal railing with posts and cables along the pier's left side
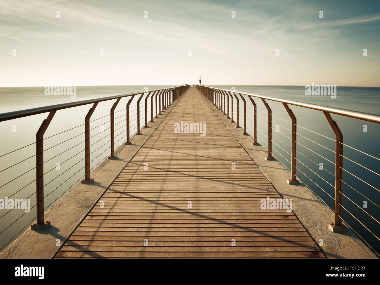
[{"label": "metal railing with posts and cables along the pier's left side", "polygon": [[[92,171],[92,169],[94,169],[99,163],[97,165],[95,165],[92,169],[90,169],[90,163],[92,161],[94,161],[95,159],[97,159],[98,157],[100,157],[100,155],[104,154],[104,152],[105,152],[105,151],[103,151],[100,155],[98,155],[95,158],[92,157],[97,150],[101,149],[101,147],[103,147],[103,146],[107,146],[108,145],[107,150],[109,150],[109,148],[111,148],[111,151],[109,153],[110,156],[108,157],[108,155],[107,155],[105,158],[103,158],[103,160],[105,160],[107,157],[109,159],[115,159],[115,158],[117,158],[115,156],[115,149],[117,148],[117,147],[115,147],[115,144],[117,142],[121,141],[123,138],[125,139],[124,140],[125,144],[130,144],[130,136],[131,136],[130,130],[132,129],[132,127],[134,127],[134,125],[137,124],[137,132],[136,132],[137,134],[140,134],[140,125],[141,125],[141,123],[144,123],[144,127],[148,127],[148,114],[147,114],[148,113],[148,108],[150,109],[150,122],[154,122],[154,118],[158,118],[158,115],[161,114],[161,111],[164,111],[169,105],[171,105],[171,103],[173,103],[174,101],[176,101],[189,87],[190,87],[190,85],[182,85],[182,86],[176,86],[176,87],[171,87],[171,88],[151,90],[151,91],[147,91],[147,92],[143,92],[143,93],[139,92],[139,93],[133,93],[133,94],[116,95],[116,96],[110,96],[110,97],[96,98],[96,99],[91,99],[91,100],[77,101],[77,102],[73,102],[73,103],[64,103],[64,104],[52,105],[52,106],[44,106],[44,107],[40,107],[40,108],[26,109],[26,110],[21,110],[21,111],[14,111],[14,112],[7,112],[7,113],[0,114],[0,122],[4,122],[4,121],[8,121],[8,120],[13,120],[13,119],[17,119],[17,118],[28,117],[28,116],[33,116],[33,115],[49,112],[47,118],[43,120],[43,122],[41,123],[40,128],[38,129],[38,131],[36,133],[36,142],[28,144],[27,146],[20,147],[18,149],[14,149],[14,150],[12,150],[10,152],[7,152],[6,154],[0,155],[0,158],[2,158],[2,157],[6,158],[7,155],[14,154],[15,152],[17,152],[19,150],[25,149],[26,147],[29,147],[29,146],[32,146],[33,144],[36,144],[36,153],[34,155],[32,155],[30,157],[27,157],[27,158],[25,158],[25,159],[23,159],[23,160],[15,163],[15,164],[9,166],[9,167],[6,167],[5,169],[1,169],[0,173],[2,173],[5,170],[12,169],[14,166],[19,165],[23,161],[26,161],[26,160],[28,160],[30,158],[33,158],[33,157],[36,157],[36,165],[35,165],[35,167],[32,168],[32,169],[29,169],[26,172],[23,172],[20,175],[17,175],[16,178],[10,179],[7,182],[0,182],[1,183],[0,189],[2,187],[4,187],[5,185],[9,185],[9,183],[11,183],[11,182],[14,182],[16,179],[20,179],[20,177],[22,177],[24,174],[27,174],[27,173],[30,173],[30,171],[36,170],[36,179],[33,180],[32,182],[29,182],[24,187],[16,190],[14,193],[11,194],[11,196],[14,196],[15,194],[19,193],[21,190],[25,189],[25,187],[27,187],[27,186],[31,185],[32,183],[36,182],[36,191],[33,192],[31,195],[29,195],[26,198],[26,199],[29,199],[30,197],[32,197],[32,195],[36,195],[36,204],[33,206],[33,207],[36,207],[36,216],[34,216],[34,218],[33,218],[33,220],[35,220],[35,223],[33,223],[32,228],[33,229],[44,229],[44,228],[46,228],[47,226],[49,226],[50,222],[47,222],[46,220],[44,220],[44,212],[52,204],[54,204],[57,201],[57,199],[59,199],[62,195],[60,195],[57,199],[55,199],[49,206],[44,207],[44,199],[46,199],[47,196],[51,195],[63,183],[67,182],[75,174],[78,174],[83,169],[85,170],[85,172],[84,172],[84,176],[82,176],[82,178],[84,178],[82,180],[82,183],[91,183],[91,182],[93,182],[93,179],[90,177],[90,174],[91,174],[90,171]],[[132,100],[133,100],[133,98],[135,96],[138,96],[137,104],[134,105],[134,106],[130,106],[131,102],[132,102]],[[125,113],[121,114],[121,115],[118,114],[115,117],[115,113],[116,113],[115,109],[116,109],[118,103],[120,102],[120,100],[122,98],[125,98],[125,97],[128,98],[128,102],[127,102],[126,108],[117,111],[117,112],[125,111]],[[145,99],[142,100],[144,97],[145,97]],[[158,97],[158,101],[159,101],[158,105],[157,105],[157,97]],[[150,101],[148,101],[149,98],[150,98]],[[91,116],[92,116],[93,112],[95,111],[95,108],[97,108],[98,104],[100,102],[109,101],[109,100],[116,100],[114,102],[114,104],[112,105],[112,108],[110,110],[110,114],[108,114],[106,116],[103,116],[103,117],[100,117],[100,118],[97,118],[97,119],[94,119],[94,120],[90,120]],[[155,106],[153,105],[153,100],[155,100]],[[161,104],[161,100],[162,100],[162,104]],[[145,113],[145,117],[144,117],[145,122],[143,121],[143,119],[140,119],[140,113],[141,113],[141,111],[140,111],[140,109],[141,109],[140,108],[140,104],[141,104],[141,102],[144,102],[142,104],[144,104],[144,106],[145,106],[145,112],[144,112]],[[59,133],[56,133],[55,135],[49,136],[47,138],[44,138],[44,133],[46,132],[47,128],[49,127],[49,124],[53,120],[54,115],[55,115],[55,113],[57,111],[60,111],[62,109],[74,108],[74,107],[82,106],[82,105],[89,105],[89,104],[92,104],[92,106],[89,109],[89,111],[87,112],[86,116],[84,117],[84,123],[83,124],[78,125],[78,126],[73,127],[73,128],[70,128],[70,129],[65,130],[65,131],[60,131]],[[130,108],[133,108],[133,107],[136,107],[136,109],[133,109],[133,112],[136,111],[136,114],[131,115]],[[155,111],[155,117],[154,117],[154,111]],[[133,118],[136,115],[137,115],[137,118],[135,118],[135,119],[132,120],[132,121],[136,120],[136,123],[134,123],[133,125],[131,125],[130,124],[131,118]],[[106,129],[106,130],[110,129],[109,140],[107,142],[105,142],[102,146],[100,146],[97,149],[95,149],[92,152],[90,152],[90,146],[94,146],[98,142],[103,143],[101,141],[103,141],[103,139],[107,138],[107,136],[108,136],[108,135],[106,135],[106,136],[103,136],[103,138],[96,138],[96,141],[92,142],[91,139],[93,139],[95,136],[99,135],[100,133],[97,133],[96,135],[90,136],[90,131],[99,127],[99,126],[97,126],[97,127],[90,128],[90,122],[95,122],[97,120],[104,119],[104,118],[106,118],[108,116],[110,116],[110,120],[108,120],[106,122],[103,122],[99,126],[104,125],[106,123],[110,123],[109,128]],[[120,120],[119,122],[115,123],[116,119],[122,118],[123,116],[126,116],[126,118],[123,119],[123,120]],[[76,128],[79,128],[79,127],[82,127],[82,126],[84,126],[84,132],[79,133],[79,135],[76,135],[76,136],[73,136],[71,138],[68,138],[68,139],[65,139],[63,141],[60,141],[58,144],[55,144],[52,147],[44,149],[44,140],[52,138],[52,137],[60,135],[60,134],[63,134],[63,133],[66,133],[67,131],[75,130]],[[124,127],[124,130],[119,131],[119,133],[115,135],[115,132],[118,131],[118,130],[120,130],[120,129],[122,129],[123,127]],[[124,133],[125,133],[125,135],[123,135]],[[123,135],[123,136],[120,137],[120,135]],[[63,152],[60,152],[59,154],[54,155],[53,157],[51,157],[48,160],[44,161],[44,152],[46,152],[47,150],[53,149],[54,147],[61,146],[63,143],[69,142],[69,141],[71,141],[74,138],[78,139],[81,136],[84,136],[83,141],[79,142],[78,144],[76,144],[74,146],[71,146],[69,149],[67,149],[67,150],[65,150]],[[118,138],[118,140],[115,142],[116,138]],[[59,174],[54,179],[52,179],[49,182],[45,183],[44,182],[44,176],[47,173],[50,173],[50,171],[52,171],[55,168],[49,169],[49,170],[47,170],[45,172],[44,163],[46,163],[47,161],[52,160],[55,157],[58,157],[61,154],[64,154],[68,150],[73,150],[75,147],[81,145],[83,142],[84,142],[84,149],[83,150],[81,150],[80,152],[76,152],[75,155],[73,155],[72,157],[66,159],[65,161],[63,161],[60,164],[62,165],[66,161],[69,161],[72,158],[75,158],[77,155],[83,154],[83,152],[84,152],[84,158],[82,158],[79,161],[77,161],[74,165],[72,165],[70,168],[68,168],[63,173]],[[123,142],[121,142],[121,144],[122,143]],[[121,144],[119,144],[119,146]],[[103,160],[101,160],[101,161],[103,161]],[[69,169],[71,169],[72,167],[78,165],[79,163],[83,163],[82,164],[83,166],[82,166],[81,169],[79,169],[71,177],[69,177],[67,180],[65,180],[65,182],[63,182],[62,184],[60,184],[57,188],[55,188],[54,190],[52,190],[47,195],[46,195],[46,193],[44,193],[44,187],[46,187],[53,180],[55,180],[58,177],[62,176]],[[70,188],[72,188],[79,181],[81,181],[81,179],[79,179],[76,183],[74,183],[73,185],[71,185]],[[68,188],[68,190],[70,188]],[[8,198],[10,198],[11,196],[9,196]],[[14,206],[16,206],[16,209],[17,209],[18,205],[14,205]],[[31,207],[31,208],[33,208],[33,207]],[[4,216],[6,216],[9,212],[11,212],[11,211],[8,211],[5,214],[1,215],[0,216],[0,220]],[[26,214],[26,212],[24,214],[22,214],[21,217],[24,216],[25,214]],[[0,232],[0,236],[2,236],[2,234],[9,227],[11,227],[14,223],[16,223],[21,217],[16,218],[9,225],[6,225],[5,229],[3,229]],[[26,226],[30,225],[30,223],[32,223],[33,220],[30,221]],[[24,228],[25,228],[25,226],[21,229],[21,231]],[[14,237],[16,237],[19,233],[21,233],[21,231],[19,231],[16,235],[14,235],[8,242],[6,242],[5,244],[3,244],[3,247],[0,250],[4,249],[5,246],[7,244],[9,244],[9,242],[11,242],[14,239]]]}]

